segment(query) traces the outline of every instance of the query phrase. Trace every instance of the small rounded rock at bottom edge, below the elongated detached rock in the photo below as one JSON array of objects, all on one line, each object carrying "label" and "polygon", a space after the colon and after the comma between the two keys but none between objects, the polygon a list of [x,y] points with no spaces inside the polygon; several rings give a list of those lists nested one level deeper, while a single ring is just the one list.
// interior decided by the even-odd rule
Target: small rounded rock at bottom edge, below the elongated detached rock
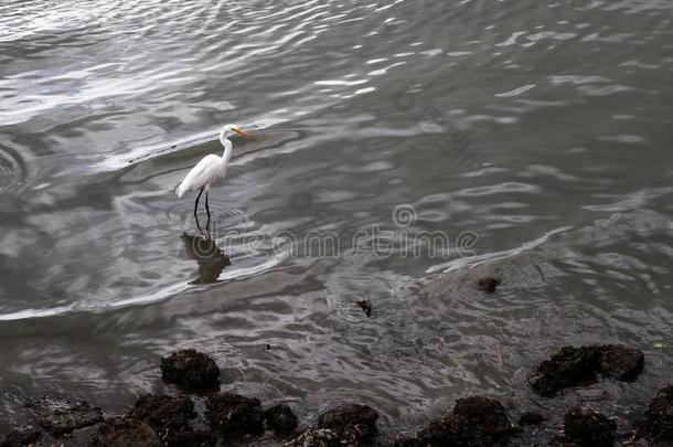
[{"label": "small rounded rock at bottom edge, below the elongated detached rock", "polygon": [[570,408],[563,419],[566,443],[579,447],[612,447],[617,423],[589,407]]}]

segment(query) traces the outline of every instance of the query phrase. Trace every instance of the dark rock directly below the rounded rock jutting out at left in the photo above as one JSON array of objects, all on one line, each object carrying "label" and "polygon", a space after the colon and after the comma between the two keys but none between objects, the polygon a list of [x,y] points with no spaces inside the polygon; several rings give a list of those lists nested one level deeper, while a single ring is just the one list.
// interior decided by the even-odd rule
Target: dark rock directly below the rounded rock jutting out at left
[{"label": "dark rock directly below the rounded rock jutting out at left", "polygon": [[180,445],[185,432],[193,433],[189,422],[196,416],[191,398],[154,394],[141,396],[128,415],[151,426],[169,446]]}]

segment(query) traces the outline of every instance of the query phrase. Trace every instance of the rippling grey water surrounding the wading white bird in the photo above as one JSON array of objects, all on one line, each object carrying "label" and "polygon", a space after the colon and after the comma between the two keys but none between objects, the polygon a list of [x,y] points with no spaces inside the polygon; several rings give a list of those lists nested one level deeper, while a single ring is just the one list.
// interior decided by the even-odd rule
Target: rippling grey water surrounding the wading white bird
[{"label": "rippling grey water surrounding the wading white bird", "polygon": [[[305,422],[367,403],[384,438],[473,393],[628,428],[673,369],[672,19],[669,0],[2,2],[0,432],[23,396],[171,392],[177,348]],[[194,195],[173,194],[226,123],[256,135],[211,193],[231,265],[195,253]],[[541,358],[589,342],[642,349],[643,375],[530,392]]]}]

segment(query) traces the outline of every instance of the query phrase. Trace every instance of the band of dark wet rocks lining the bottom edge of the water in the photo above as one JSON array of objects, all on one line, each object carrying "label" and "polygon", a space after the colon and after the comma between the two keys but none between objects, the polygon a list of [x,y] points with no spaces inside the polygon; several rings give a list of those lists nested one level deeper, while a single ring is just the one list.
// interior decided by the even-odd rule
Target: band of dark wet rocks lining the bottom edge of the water
[{"label": "band of dark wet rocks lining the bottom edge of the water", "polygon": [[[531,373],[535,393],[554,398],[562,390],[581,386],[598,376],[630,382],[644,365],[639,350],[623,345],[565,347]],[[418,427],[412,436],[378,438],[378,413],[362,403],[343,403],[317,415],[299,429],[300,421],[286,404],[220,389],[220,368],[206,354],[182,350],[161,360],[161,374],[177,395],[141,395],[124,415],[107,415],[87,402],[39,396],[25,402],[31,421],[0,436],[0,447],[18,446],[520,446],[530,427],[545,424],[535,412],[516,423],[503,404],[488,396],[459,398],[445,416]],[[673,446],[673,385],[660,390],[624,437],[609,414],[588,406],[567,408],[563,427],[551,445],[589,447],[615,445]]]}]

